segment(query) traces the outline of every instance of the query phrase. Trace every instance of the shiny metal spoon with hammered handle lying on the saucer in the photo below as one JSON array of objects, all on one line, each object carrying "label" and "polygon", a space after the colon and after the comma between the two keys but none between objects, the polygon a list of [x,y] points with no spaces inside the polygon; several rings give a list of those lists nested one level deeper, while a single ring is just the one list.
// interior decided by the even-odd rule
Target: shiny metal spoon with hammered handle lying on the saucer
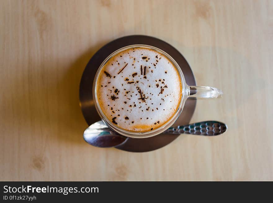
[{"label": "shiny metal spoon with hammered handle lying on the saucer", "polygon": [[[182,125],[171,127],[164,131],[167,134],[192,134],[192,135],[205,135],[213,136],[220,135],[226,132],[226,124],[218,121],[203,121],[189,125]],[[98,121],[90,125],[83,132],[83,139],[90,145],[96,147],[115,147],[123,142],[128,137],[122,136],[111,130],[103,121]]]}]

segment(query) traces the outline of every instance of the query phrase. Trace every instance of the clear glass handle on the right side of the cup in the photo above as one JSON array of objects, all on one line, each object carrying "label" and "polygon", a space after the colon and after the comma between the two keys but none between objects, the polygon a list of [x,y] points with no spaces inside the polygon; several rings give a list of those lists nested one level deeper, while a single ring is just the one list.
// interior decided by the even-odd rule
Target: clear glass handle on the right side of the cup
[{"label": "clear glass handle on the right side of the cup", "polygon": [[197,98],[221,98],[222,90],[215,87],[188,86],[188,96]]}]

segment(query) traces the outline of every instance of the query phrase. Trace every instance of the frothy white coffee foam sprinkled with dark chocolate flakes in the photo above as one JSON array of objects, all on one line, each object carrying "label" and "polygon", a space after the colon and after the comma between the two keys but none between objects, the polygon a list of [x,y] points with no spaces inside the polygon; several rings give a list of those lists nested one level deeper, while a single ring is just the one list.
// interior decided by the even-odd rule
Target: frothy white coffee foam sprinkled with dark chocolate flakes
[{"label": "frothy white coffee foam sprinkled with dark chocolate flakes", "polygon": [[102,68],[96,94],[105,116],[119,128],[146,132],[175,114],[182,85],[167,57],[147,48],[116,54]]}]

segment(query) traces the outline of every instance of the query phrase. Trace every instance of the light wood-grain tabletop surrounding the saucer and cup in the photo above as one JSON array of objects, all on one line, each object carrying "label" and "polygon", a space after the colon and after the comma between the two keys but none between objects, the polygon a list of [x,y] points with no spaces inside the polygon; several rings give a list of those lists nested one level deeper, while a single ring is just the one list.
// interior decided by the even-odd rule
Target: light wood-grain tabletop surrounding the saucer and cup
[{"label": "light wood-grain tabletop surrounding the saucer and cup", "polygon": [[[0,6],[0,180],[273,180],[273,1],[6,1]],[[217,137],[181,135],[130,153],[83,141],[78,88],[90,57],[121,36],[165,40],[198,85],[192,122]]]}]

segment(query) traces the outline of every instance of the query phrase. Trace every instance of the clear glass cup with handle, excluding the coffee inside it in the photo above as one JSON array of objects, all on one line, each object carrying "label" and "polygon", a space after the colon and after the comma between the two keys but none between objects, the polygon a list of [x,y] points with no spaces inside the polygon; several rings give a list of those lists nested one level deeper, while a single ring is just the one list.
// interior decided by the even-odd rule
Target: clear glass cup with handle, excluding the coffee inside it
[{"label": "clear glass cup with handle, excluding the coffee inside it", "polygon": [[[145,49],[151,49],[156,51],[157,53],[162,54],[164,57],[166,57],[171,63],[172,65],[176,68],[177,73],[179,75],[180,78],[180,82],[181,82],[181,99],[180,102],[178,104],[178,107],[176,109],[176,112],[172,115],[172,117],[165,122],[163,125],[161,125],[159,128],[156,129],[151,129],[149,131],[145,131],[145,132],[136,132],[136,131],[129,131],[129,130],[125,130],[123,128],[120,128],[118,125],[115,125],[113,123],[113,121],[109,120],[107,118],[107,116],[104,114],[104,112],[101,109],[101,106],[99,104],[99,100],[98,100],[98,96],[97,96],[97,91],[98,91],[98,78],[99,75],[101,74],[101,71],[103,69],[103,67],[105,66],[105,64],[112,58],[114,57],[116,54],[121,53],[125,50],[128,49],[134,49],[134,48],[145,48]],[[141,70],[142,71],[142,70]],[[132,137],[132,138],[146,138],[146,137],[152,137],[155,135],[158,135],[162,132],[164,132],[165,130],[167,130],[169,127],[171,127],[174,122],[178,119],[178,117],[181,115],[182,111],[183,111],[183,107],[185,105],[186,99],[188,97],[197,97],[197,98],[219,98],[222,96],[222,91],[214,88],[214,87],[202,87],[202,86],[188,86],[186,84],[183,72],[181,70],[181,68],[179,67],[179,65],[177,64],[177,62],[166,52],[164,52],[161,49],[158,49],[156,47],[150,46],[150,45],[144,45],[144,44],[135,44],[135,45],[129,45],[126,47],[123,47],[121,49],[116,50],[115,52],[111,53],[101,64],[101,66],[99,67],[96,76],[95,76],[95,80],[93,83],[93,98],[95,100],[95,107],[96,110],[99,114],[99,116],[101,117],[101,120],[108,125],[112,130],[114,130],[115,132],[123,135],[123,136],[127,136],[127,137]],[[137,121],[135,121],[137,122]]]}]

